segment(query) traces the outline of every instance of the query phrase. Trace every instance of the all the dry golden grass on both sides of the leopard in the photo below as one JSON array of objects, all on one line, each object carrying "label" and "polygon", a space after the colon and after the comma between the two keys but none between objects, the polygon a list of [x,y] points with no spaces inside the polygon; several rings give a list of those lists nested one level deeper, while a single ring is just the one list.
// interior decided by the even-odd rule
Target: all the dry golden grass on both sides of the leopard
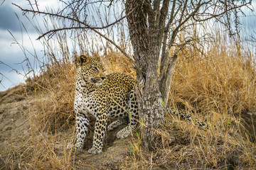
[{"label": "all the dry golden grass on both sides of the leopard", "polygon": [[[102,55],[93,55],[101,57],[107,73],[125,72],[134,77],[124,56],[110,46],[105,49]],[[188,113],[195,110],[192,116],[207,120],[208,129],[167,114],[166,125],[159,130],[157,149],[145,151],[140,135],[134,134],[130,154],[120,167],[255,169],[255,144],[240,122],[242,114],[253,111],[256,104],[255,56],[248,54],[234,44],[226,44],[220,36],[208,44],[204,55],[196,49],[179,53],[171,106],[188,108]],[[73,138],[75,118],[75,64],[68,61],[53,61],[47,72],[27,80],[27,91],[35,96],[30,113],[31,136],[15,149],[6,148],[10,169],[76,168],[75,154],[65,149],[68,138],[63,137],[69,131]],[[56,145],[62,150],[56,151]]]}]

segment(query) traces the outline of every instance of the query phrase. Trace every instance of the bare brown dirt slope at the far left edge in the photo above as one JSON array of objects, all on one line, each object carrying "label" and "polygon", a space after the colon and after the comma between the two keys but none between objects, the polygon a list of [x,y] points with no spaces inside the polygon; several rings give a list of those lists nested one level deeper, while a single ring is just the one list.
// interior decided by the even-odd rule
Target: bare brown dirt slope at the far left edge
[{"label": "bare brown dirt slope at the far left edge", "polygon": [[0,167],[2,168],[10,167],[11,162],[14,162],[10,157],[4,157],[4,155],[9,156],[6,151],[14,149],[16,147],[14,143],[19,145],[30,135],[28,113],[33,100],[23,97],[21,91],[23,85],[0,92]]}]

